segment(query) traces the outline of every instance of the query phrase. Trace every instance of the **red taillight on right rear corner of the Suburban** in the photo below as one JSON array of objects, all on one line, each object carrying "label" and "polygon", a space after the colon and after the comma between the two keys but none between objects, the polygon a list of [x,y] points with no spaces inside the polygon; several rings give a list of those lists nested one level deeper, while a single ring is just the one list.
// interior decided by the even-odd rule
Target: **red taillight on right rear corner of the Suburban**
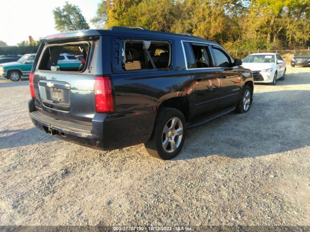
[{"label": "red taillight on right rear corner of the Suburban", "polygon": [[111,81],[107,76],[96,76],[94,83],[97,113],[113,112],[113,95]]}]

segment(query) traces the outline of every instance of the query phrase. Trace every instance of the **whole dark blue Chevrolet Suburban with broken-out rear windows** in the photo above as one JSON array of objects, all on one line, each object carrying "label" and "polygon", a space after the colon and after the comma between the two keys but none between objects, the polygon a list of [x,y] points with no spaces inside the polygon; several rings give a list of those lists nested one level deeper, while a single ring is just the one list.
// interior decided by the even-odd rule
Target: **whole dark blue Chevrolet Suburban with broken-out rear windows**
[{"label": "whole dark blue Chevrolet Suburban with broken-out rear windows", "polygon": [[[41,38],[30,74],[32,122],[81,145],[112,150],[144,143],[164,160],[186,129],[229,112],[248,112],[252,73],[200,37],[112,27]],[[59,55],[82,57],[79,67]]]}]

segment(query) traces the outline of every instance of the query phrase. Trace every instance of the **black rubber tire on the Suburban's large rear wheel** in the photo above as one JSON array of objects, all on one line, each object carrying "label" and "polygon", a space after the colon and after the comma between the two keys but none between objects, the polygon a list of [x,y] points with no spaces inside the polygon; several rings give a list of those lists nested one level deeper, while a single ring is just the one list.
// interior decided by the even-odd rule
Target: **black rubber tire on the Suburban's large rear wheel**
[{"label": "black rubber tire on the Suburban's large rear wheel", "polygon": [[[170,131],[172,129],[169,128],[170,136],[172,135],[174,136],[172,140],[175,141],[176,139],[177,141],[177,143],[175,142],[173,143],[178,144],[178,145],[174,151],[172,151],[173,149],[171,146],[171,152],[167,152],[166,150],[168,149],[168,146],[171,145],[171,143],[167,142],[168,146],[166,146],[165,148],[166,150],[164,149],[163,144],[166,140],[169,140],[169,141],[172,141],[172,140],[170,140],[171,137],[165,137],[164,128],[169,124],[172,118],[180,119],[182,123],[183,131],[182,131],[181,137],[178,135],[174,136],[174,134]],[[178,120],[177,120],[177,125],[180,126]],[[177,125],[175,125],[173,128],[177,127]],[[167,126],[167,129],[168,129],[168,126]],[[168,135],[168,133],[166,135]],[[149,139],[149,141],[147,141],[144,144],[144,146],[147,152],[151,156],[158,158],[158,159],[162,159],[162,160],[171,160],[180,152],[184,144],[185,135],[186,135],[186,119],[185,119],[185,116],[182,114],[182,112],[174,108],[162,107],[158,109],[151,138]],[[179,141],[179,139],[181,140]]]}]

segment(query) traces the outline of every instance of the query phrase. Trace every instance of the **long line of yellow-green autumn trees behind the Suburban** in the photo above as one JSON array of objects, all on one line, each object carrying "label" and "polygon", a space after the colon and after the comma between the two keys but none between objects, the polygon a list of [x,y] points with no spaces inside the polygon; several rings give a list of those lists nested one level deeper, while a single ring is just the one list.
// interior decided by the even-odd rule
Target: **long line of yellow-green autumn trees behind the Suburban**
[{"label": "long line of yellow-green autumn trees behind the Suburban", "polygon": [[310,0],[102,0],[92,22],[189,33],[227,49],[301,47],[310,41]]}]

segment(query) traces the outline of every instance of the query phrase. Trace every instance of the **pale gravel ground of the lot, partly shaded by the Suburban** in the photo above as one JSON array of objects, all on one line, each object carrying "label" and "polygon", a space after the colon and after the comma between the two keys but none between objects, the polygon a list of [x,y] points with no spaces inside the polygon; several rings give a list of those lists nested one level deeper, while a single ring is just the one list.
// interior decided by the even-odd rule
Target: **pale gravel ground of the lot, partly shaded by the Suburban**
[{"label": "pale gravel ground of the lot, partly shaded by the Suburban", "polygon": [[34,128],[27,81],[0,80],[0,225],[310,225],[310,68],[255,85],[244,115],[188,131],[175,159]]}]

